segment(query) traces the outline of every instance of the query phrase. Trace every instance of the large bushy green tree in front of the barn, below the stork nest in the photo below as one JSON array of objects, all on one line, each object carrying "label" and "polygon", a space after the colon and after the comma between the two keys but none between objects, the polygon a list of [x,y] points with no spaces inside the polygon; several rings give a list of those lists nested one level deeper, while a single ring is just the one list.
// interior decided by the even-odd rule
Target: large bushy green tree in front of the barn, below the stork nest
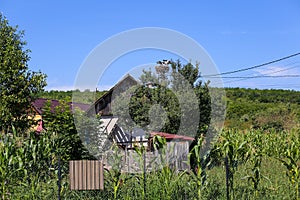
[{"label": "large bushy green tree in front of the barn, below the stork nest", "polygon": [[194,137],[210,123],[211,109],[208,84],[199,81],[198,64],[158,62],[155,70],[143,70],[142,85],[113,100],[119,125],[127,131],[139,126]]}]

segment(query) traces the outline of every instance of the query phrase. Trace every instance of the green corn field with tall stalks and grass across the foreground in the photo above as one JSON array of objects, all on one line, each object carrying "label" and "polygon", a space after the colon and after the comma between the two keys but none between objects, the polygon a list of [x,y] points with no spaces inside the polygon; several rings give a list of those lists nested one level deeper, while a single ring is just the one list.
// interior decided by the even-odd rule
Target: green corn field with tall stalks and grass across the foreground
[{"label": "green corn field with tall stalks and grass across the foreground", "polygon": [[[39,139],[1,135],[0,186],[4,199],[300,199],[300,129],[224,130],[209,154],[190,150],[194,166],[168,163],[146,174],[104,172],[103,191],[71,191],[68,160],[58,156],[57,135]],[[187,161],[188,162],[188,161]],[[60,176],[59,176],[59,173]]]}]

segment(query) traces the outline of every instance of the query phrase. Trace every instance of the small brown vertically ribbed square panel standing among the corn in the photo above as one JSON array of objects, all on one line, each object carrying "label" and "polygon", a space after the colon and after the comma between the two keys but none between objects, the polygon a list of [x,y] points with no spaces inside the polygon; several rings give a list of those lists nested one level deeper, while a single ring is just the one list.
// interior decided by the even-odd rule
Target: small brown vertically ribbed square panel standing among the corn
[{"label": "small brown vertically ribbed square panel standing among the corn", "polygon": [[69,162],[71,190],[103,190],[103,163],[99,160]]}]

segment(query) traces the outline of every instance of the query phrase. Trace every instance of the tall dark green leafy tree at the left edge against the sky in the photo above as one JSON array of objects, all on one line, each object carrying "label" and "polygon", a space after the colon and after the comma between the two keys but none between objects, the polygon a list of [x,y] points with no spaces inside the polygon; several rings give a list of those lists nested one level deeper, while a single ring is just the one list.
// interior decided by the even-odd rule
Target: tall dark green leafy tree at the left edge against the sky
[{"label": "tall dark green leafy tree at the left edge against the sky", "polygon": [[31,102],[46,86],[46,75],[28,68],[29,49],[24,49],[23,31],[9,25],[0,14],[0,130],[13,125],[29,127],[27,117]]}]

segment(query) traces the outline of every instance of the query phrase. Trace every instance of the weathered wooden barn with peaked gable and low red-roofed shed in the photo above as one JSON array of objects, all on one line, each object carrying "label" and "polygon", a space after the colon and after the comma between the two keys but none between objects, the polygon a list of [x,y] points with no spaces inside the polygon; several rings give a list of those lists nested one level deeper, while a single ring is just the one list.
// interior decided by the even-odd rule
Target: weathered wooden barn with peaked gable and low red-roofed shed
[{"label": "weathered wooden barn with peaked gable and low red-roofed shed", "polygon": [[[121,94],[137,84],[138,81],[136,81],[132,76],[126,75],[107,93],[95,101],[95,103],[92,104],[86,112],[90,116],[95,114],[101,115],[101,132],[104,133],[104,135],[106,135],[111,141],[117,144],[121,149],[125,150],[123,151],[123,162],[125,163],[124,166],[126,166],[125,168],[127,168],[127,171],[131,167],[129,165],[136,165],[134,161],[136,159],[133,158],[134,151],[132,151],[135,147],[145,147],[147,150],[147,162],[162,162],[162,160],[154,162],[154,160],[159,157],[159,153],[154,151],[152,148],[152,139],[156,135],[166,139],[166,157],[171,162],[169,165],[180,170],[189,168],[184,161],[187,161],[188,159],[189,146],[194,138],[163,132],[150,132],[150,134],[146,134],[142,129],[139,128],[134,128],[132,132],[127,132],[123,130],[121,126],[119,126],[118,116],[114,116],[112,113],[111,103],[114,97],[113,95],[114,93]],[[153,167],[149,166],[149,168]]]}]

